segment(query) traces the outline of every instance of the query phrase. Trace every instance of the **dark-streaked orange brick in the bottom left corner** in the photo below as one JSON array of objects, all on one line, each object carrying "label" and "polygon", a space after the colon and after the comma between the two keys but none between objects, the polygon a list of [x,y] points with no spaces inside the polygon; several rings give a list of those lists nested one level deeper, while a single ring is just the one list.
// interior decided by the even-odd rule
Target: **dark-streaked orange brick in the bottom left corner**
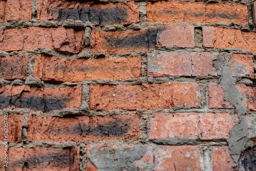
[{"label": "dark-streaked orange brick in the bottom left corner", "polygon": [[[1,149],[1,148],[0,148]],[[4,155],[1,153],[0,170],[79,170],[80,147],[75,148],[20,148],[8,149],[8,167],[4,168]]]}]

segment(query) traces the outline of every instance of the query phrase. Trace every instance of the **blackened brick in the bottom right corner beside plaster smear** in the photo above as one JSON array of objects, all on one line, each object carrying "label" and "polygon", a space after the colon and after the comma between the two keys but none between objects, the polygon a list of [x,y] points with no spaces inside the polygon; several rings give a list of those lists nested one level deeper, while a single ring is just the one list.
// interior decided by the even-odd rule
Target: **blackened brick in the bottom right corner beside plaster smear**
[{"label": "blackened brick in the bottom right corner beside plaster smear", "polygon": [[246,150],[239,159],[239,170],[255,170],[256,168],[256,151]]}]

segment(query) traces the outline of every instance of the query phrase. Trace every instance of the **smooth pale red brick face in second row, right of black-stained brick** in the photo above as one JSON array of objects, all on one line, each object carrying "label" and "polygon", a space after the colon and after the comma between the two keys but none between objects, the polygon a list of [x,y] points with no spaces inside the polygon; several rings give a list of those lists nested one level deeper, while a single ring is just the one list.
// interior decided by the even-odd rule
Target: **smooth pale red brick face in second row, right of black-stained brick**
[{"label": "smooth pale red brick face in second row, right of black-stained brick", "polygon": [[157,47],[195,48],[195,28],[186,25],[157,27]]}]

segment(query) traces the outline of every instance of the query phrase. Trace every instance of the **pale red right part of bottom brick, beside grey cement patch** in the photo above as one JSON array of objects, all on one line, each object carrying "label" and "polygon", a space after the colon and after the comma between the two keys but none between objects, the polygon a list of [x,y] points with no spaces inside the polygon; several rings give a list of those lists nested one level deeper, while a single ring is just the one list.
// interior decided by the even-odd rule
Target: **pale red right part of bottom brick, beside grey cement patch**
[{"label": "pale red right part of bottom brick, beside grey cement patch", "polygon": [[154,159],[155,171],[200,170],[199,146],[157,146]]}]

